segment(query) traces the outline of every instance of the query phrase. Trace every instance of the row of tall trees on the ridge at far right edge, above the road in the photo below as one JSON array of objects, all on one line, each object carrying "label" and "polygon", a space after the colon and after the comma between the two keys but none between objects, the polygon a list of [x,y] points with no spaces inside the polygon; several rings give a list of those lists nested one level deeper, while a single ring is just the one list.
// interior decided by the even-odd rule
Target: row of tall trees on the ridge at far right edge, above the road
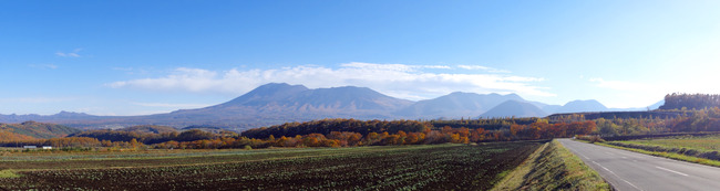
[{"label": "row of tall trees on the ridge at far right edge, above the road", "polygon": [[[720,95],[717,94],[668,94],[660,109],[703,109],[720,107]],[[685,109],[683,109],[685,108]]]}]

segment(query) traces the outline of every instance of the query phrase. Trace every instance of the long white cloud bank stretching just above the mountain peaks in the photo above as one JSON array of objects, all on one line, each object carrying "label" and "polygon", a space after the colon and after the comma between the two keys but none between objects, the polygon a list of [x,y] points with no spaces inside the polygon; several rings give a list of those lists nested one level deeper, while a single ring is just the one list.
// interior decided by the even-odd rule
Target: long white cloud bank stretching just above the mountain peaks
[{"label": "long white cloud bank stretching just above the mountain peaks", "polygon": [[450,68],[405,64],[346,63],[339,68],[292,66],[277,70],[208,71],[179,67],[172,74],[114,82],[114,88],[184,91],[240,95],[267,83],[302,84],[309,88],[362,86],[390,96],[408,99],[433,98],[451,92],[517,93],[531,96],[555,96],[533,85],[543,78],[498,74],[453,74],[423,72],[422,68]]}]

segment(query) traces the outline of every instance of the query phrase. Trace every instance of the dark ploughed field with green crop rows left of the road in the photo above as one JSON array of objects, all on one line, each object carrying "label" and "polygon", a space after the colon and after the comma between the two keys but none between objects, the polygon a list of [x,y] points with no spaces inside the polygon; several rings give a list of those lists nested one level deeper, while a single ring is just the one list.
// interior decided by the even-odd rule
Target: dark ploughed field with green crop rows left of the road
[{"label": "dark ploughed field with green crop rows left of the road", "polygon": [[0,190],[487,190],[542,145],[3,152]]}]

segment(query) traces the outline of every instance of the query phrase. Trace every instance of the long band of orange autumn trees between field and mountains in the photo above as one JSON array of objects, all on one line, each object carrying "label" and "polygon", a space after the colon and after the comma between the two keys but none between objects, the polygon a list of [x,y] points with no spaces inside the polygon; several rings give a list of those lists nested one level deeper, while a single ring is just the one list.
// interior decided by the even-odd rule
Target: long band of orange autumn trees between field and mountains
[{"label": "long band of orange autumn trees between field and mountains", "polygon": [[[0,146],[33,145],[59,148],[104,147],[115,149],[356,147],[536,140],[586,135],[596,130],[594,121],[549,124],[543,119],[533,120],[535,121],[531,124],[513,123],[507,128],[486,130],[451,126],[433,127],[431,123],[415,120],[323,119],[257,128],[244,132],[243,136],[229,131],[215,134],[198,129],[178,132],[163,127],[145,126],[117,130],[90,130],[65,138],[0,141]],[[463,123],[469,124],[470,121],[457,121],[456,124]]]}]

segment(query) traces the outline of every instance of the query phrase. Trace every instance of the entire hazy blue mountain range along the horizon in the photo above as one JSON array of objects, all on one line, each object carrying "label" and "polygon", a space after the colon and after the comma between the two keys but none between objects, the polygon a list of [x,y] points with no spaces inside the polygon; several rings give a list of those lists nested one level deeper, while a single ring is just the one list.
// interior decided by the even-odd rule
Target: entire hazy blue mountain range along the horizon
[{"label": "entire hazy blue mountain range along the horizon", "polygon": [[[661,105],[661,104],[660,104]],[[642,110],[636,108],[632,110]],[[367,87],[343,86],[310,89],[302,85],[270,83],[229,102],[197,109],[145,116],[93,116],[61,112],[55,115],[0,115],[0,123],[27,120],[56,123],[83,129],[164,125],[176,128],[215,126],[233,130],[322,118],[434,119],[477,117],[544,117],[555,113],[610,112],[597,100],[548,105],[516,94],[455,92],[433,99],[412,102],[383,95]]]}]

